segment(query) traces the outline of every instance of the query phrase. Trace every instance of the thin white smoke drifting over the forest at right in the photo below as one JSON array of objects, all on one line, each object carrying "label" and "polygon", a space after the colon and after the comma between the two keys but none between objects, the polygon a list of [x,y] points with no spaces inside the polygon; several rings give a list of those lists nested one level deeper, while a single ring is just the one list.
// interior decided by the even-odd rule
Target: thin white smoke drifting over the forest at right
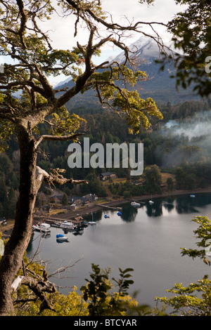
[{"label": "thin white smoke drifting over the forest at right", "polygon": [[155,157],[161,166],[174,168],[180,164],[195,164],[205,160],[211,164],[211,110],[198,112],[185,119],[170,120],[155,135],[162,136]]}]

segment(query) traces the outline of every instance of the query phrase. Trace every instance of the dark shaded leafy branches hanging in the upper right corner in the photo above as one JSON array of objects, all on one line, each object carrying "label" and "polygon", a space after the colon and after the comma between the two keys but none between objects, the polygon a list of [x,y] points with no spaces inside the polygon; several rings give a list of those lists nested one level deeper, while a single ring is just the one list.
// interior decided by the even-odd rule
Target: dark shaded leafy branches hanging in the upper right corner
[{"label": "dark shaded leafy branches hanging in the upper right corner", "polygon": [[176,0],[186,5],[184,11],[168,22],[168,30],[173,34],[175,55],[175,77],[177,86],[187,88],[200,96],[208,96],[211,91],[211,27],[210,0]]}]

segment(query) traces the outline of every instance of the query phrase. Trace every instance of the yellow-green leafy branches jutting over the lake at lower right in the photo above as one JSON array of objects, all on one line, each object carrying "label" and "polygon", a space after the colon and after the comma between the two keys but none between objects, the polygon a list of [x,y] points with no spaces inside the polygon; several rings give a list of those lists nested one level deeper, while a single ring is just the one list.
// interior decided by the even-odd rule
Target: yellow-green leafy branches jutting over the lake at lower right
[{"label": "yellow-green leafy branches jutting over the lake at lower right", "polygon": [[[211,221],[207,216],[196,216],[192,219],[198,223],[198,228],[194,230],[196,238],[199,239],[197,246],[199,249],[181,249],[182,256],[190,256],[191,258],[200,258],[206,265],[210,265],[210,235]],[[199,279],[197,283],[191,283],[184,286],[181,283],[174,284],[172,289],[167,290],[174,293],[174,296],[167,298],[156,298],[157,301],[165,303],[167,307],[172,308],[172,315],[181,316],[210,316],[210,298],[211,298],[211,280],[208,275],[203,279]],[[200,293],[200,294],[199,294]]]}]

